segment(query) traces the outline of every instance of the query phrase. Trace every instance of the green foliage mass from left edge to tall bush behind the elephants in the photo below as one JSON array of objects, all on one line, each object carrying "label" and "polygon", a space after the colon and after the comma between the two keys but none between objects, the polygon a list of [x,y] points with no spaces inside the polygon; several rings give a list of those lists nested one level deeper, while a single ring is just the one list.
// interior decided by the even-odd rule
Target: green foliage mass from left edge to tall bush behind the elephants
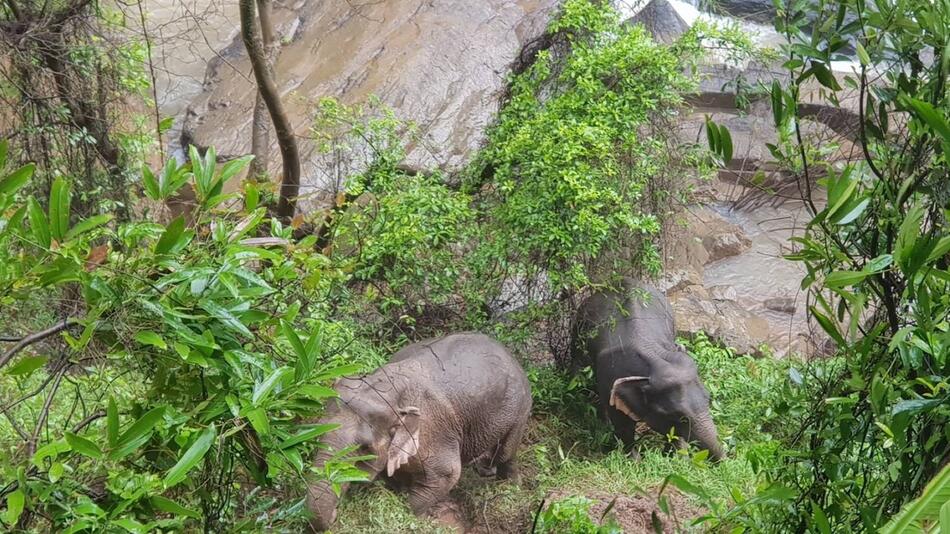
[{"label": "green foliage mass from left edge to tall bush behind the elephants", "polygon": [[[378,102],[321,102],[315,137],[362,164],[313,221],[271,218],[256,182],[228,192],[248,160],[211,149],[144,167],[135,209],[118,210],[88,204],[98,186],[71,167],[18,166],[30,146],[4,144],[5,527],[292,530],[308,480],[361,476],[352,458],[307,461],[334,378],[448,329],[538,336],[537,299],[582,289],[601,257],[644,251],[626,270],[655,271],[650,177],[679,160],[648,131],[691,86],[678,52],[586,1],[552,32],[573,52],[515,76],[461,185],[401,167],[406,125]],[[641,74],[610,79],[618,61]],[[194,207],[169,210],[182,194]],[[541,290],[503,302],[525,280]],[[520,323],[498,321],[518,307]]]}]

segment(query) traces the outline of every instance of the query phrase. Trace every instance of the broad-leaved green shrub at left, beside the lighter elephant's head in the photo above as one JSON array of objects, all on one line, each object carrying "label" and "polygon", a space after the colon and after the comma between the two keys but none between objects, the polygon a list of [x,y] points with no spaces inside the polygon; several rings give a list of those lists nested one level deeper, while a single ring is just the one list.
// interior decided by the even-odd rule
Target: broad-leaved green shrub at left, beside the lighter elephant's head
[{"label": "broad-leaved green shrub at left, beside the lighter elephant's head", "polygon": [[192,151],[189,165],[146,172],[154,200],[193,183],[190,228],[182,217],[72,224],[66,179],[46,209],[16,194],[31,166],[0,179],[0,245],[15,260],[0,272],[5,304],[76,299],[54,299],[54,327],[0,362],[4,397],[16,399],[2,423],[7,527],[214,529],[232,520],[243,484],[334,475],[304,461],[331,427],[301,420],[335,395],[334,378],[378,360],[329,318],[325,286],[297,283],[325,258],[290,245],[278,222],[263,227],[252,196],[222,193],[247,160],[214,161]]}]

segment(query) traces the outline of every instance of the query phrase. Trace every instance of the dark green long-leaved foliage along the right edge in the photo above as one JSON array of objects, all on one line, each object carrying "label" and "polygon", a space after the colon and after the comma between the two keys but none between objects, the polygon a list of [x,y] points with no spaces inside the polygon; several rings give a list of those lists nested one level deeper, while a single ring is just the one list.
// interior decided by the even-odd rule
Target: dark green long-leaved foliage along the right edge
[{"label": "dark green long-leaved foliage along the right edge", "polygon": [[[799,376],[809,395],[777,406],[797,430],[781,461],[762,466],[762,491],[711,504],[707,524],[874,531],[950,455],[950,4],[792,0],[776,28],[790,81],[771,87],[769,150],[812,215],[788,258],[806,267],[810,315],[838,355]],[[856,66],[835,73],[848,44]],[[836,154],[807,128],[801,107],[815,93],[856,99],[838,130],[853,150]],[[945,492],[922,498],[932,506],[915,520],[935,520]]]}]

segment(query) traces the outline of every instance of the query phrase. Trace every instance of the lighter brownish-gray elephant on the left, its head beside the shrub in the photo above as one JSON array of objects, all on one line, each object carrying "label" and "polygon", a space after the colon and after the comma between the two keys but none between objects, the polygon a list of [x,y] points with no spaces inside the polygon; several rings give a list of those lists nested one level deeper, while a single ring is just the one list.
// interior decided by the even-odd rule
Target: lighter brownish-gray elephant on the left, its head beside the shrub
[{"label": "lighter brownish-gray elephant on the left, its head beside the shrub", "polygon": [[[518,479],[516,455],[531,412],[524,370],[494,339],[476,332],[409,345],[363,378],[334,384],[338,398],[320,423],[339,425],[323,439],[314,465],[355,446],[374,457],[357,466],[407,489],[417,514],[448,496],[462,466],[482,475]],[[345,491],[345,485],[343,488]],[[327,481],[309,485],[310,528],[336,520],[338,498]]]}]

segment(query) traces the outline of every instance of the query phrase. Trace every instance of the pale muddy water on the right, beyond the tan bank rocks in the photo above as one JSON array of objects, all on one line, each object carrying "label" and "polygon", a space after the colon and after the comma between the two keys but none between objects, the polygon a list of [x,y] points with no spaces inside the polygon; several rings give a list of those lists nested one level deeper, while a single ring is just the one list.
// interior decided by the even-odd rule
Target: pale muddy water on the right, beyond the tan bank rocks
[{"label": "pale muddy water on the right, beyond the tan bank rocks", "polygon": [[[808,221],[807,212],[795,203],[749,211],[732,209],[731,204],[725,202],[710,207],[741,227],[752,241],[752,247],[742,254],[707,265],[703,272],[704,284],[706,287],[734,287],[738,302],[769,322],[770,346],[802,350],[804,340],[799,333],[808,331],[805,293],[800,288],[805,270],[782,255],[790,252],[788,239],[801,235],[801,228]],[[767,308],[765,302],[769,299],[789,299],[794,312]]]}]

